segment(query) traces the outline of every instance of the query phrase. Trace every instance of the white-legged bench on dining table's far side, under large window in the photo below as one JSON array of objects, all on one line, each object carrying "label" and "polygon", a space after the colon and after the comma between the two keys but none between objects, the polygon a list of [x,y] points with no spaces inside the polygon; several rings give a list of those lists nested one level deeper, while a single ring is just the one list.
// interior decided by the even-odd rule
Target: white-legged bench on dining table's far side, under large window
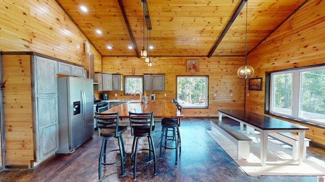
[{"label": "white-legged bench on dining table's far side, under large window", "polygon": [[[285,142],[291,146],[293,146],[293,160],[298,160],[299,156],[299,136],[298,134],[290,133],[290,132],[270,132],[269,136],[272,136],[275,139],[278,139],[282,142]],[[304,140],[304,152],[303,159],[306,159],[306,150],[309,147],[309,142],[311,140],[305,138]]]}]

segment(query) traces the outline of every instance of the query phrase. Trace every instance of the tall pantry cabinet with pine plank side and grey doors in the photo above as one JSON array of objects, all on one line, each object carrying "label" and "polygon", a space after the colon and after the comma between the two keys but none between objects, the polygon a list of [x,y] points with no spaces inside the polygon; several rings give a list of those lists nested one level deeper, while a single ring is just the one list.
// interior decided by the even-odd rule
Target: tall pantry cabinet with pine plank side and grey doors
[{"label": "tall pantry cabinet with pine plank side and grey doors", "polygon": [[57,61],[3,52],[5,165],[30,168],[58,150]]}]

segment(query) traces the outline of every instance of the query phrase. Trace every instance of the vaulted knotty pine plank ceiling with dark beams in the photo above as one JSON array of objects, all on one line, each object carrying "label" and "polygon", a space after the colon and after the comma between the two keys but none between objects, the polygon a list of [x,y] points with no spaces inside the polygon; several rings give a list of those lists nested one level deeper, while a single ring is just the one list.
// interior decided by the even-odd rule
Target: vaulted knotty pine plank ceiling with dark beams
[{"label": "vaulted knotty pine plank ceiling with dark beams", "polygon": [[[147,48],[147,32],[152,57],[245,55],[245,1],[144,1],[151,31],[147,31],[146,23],[143,26],[141,0],[56,0],[102,56],[139,57],[143,43]],[[248,0],[247,53],[306,1]],[[81,11],[81,6],[88,12]]]}]

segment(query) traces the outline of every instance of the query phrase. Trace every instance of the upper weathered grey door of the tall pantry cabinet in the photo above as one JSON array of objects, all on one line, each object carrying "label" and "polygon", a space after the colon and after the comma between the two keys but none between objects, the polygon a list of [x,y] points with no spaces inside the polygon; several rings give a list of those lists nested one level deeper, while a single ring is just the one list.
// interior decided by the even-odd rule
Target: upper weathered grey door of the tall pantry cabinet
[{"label": "upper weathered grey door of the tall pantry cabinet", "polygon": [[57,92],[56,73],[57,63],[56,61],[35,57],[35,72],[36,80],[35,86],[37,94],[53,94]]}]

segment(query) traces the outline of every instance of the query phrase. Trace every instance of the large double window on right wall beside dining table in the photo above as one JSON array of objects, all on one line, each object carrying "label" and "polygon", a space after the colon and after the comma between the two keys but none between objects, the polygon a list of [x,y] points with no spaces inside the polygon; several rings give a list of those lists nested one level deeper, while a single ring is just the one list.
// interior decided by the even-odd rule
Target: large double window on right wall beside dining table
[{"label": "large double window on right wall beside dining table", "polygon": [[325,66],[267,73],[268,76],[267,112],[325,124]]}]

